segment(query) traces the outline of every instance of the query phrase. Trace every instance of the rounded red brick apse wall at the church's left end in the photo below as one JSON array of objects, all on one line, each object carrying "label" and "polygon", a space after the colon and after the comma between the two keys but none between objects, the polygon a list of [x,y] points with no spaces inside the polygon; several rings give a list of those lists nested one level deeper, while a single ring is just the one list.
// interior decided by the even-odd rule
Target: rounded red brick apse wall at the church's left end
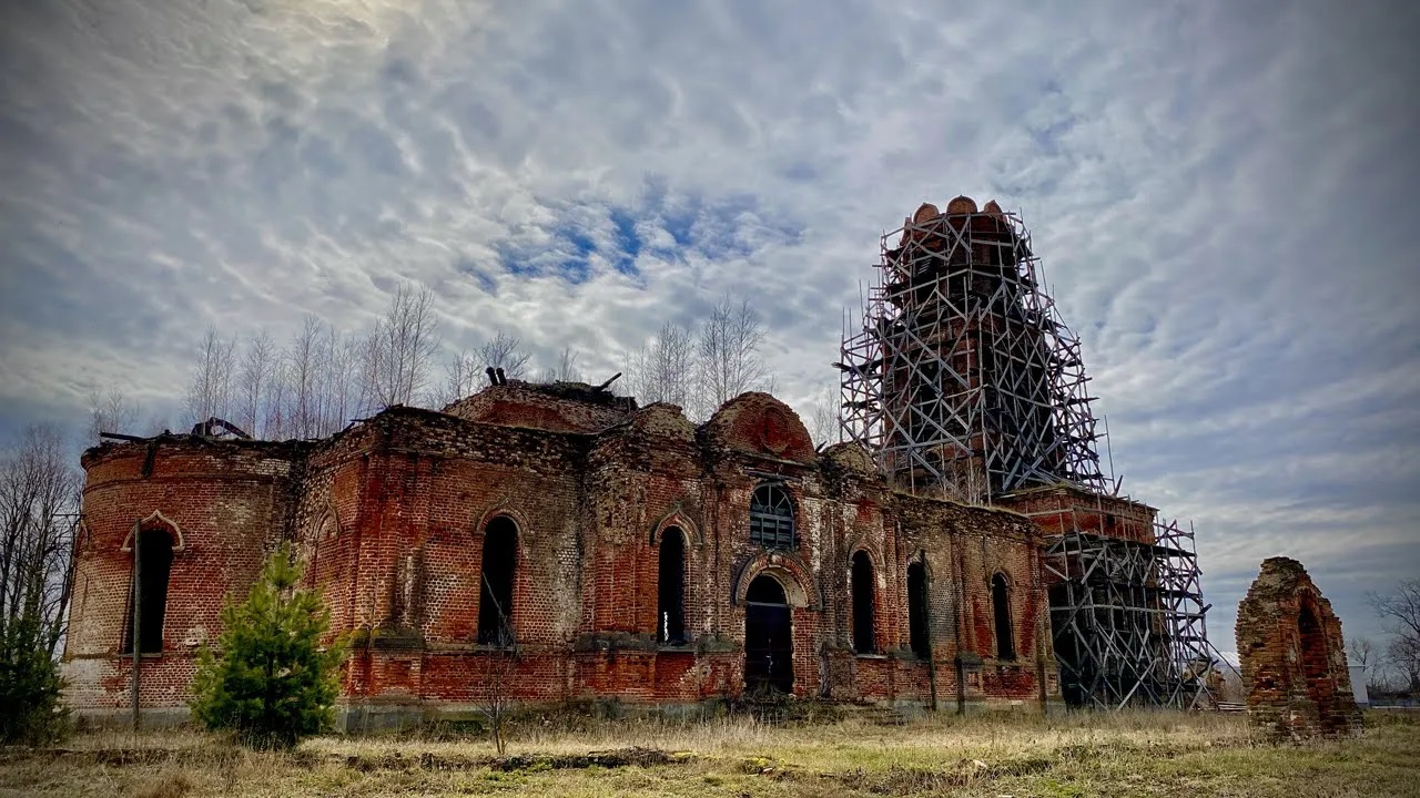
[{"label": "rounded red brick apse wall at the church's left end", "polygon": [[[135,521],[175,544],[162,656],[143,657],[143,706],[180,706],[196,647],[220,630],[229,595],[244,596],[288,527],[300,446],[160,442],[106,444],[84,456],[84,531],[64,663],[68,700],[128,706],[132,657],[122,652]],[[125,551],[128,548],[128,551]]]}]

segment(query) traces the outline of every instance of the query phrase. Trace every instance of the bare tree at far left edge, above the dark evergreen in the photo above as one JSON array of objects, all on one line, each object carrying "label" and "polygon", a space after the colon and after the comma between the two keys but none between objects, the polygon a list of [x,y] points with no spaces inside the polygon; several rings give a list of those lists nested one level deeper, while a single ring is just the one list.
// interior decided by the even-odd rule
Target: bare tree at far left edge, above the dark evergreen
[{"label": "bare tree at far left edge, above the dark evergreen", "polygon": [[30,426],[0,452],[0,642],[54,657],[72,592],[70,559],[80,479],[64,436]]}]

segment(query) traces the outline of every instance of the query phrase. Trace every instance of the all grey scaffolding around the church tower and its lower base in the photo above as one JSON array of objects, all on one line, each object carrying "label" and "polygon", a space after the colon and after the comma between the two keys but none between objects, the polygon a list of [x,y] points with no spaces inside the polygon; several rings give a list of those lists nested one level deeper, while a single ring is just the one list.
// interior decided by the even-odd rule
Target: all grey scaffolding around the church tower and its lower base
[{"label": "all grey scaffolding around the church tower and its lower base", "polygon": [[[946,213],[923,204],[880,247],[834,364],[843,433],[899,490],[997,504],[1068,484],[1095,497],[1098,520],[1119,484],[1100,470],[1079,339],[1042,287],[1020,216],[966,197]],[[1191,525],[1154,521],[1130,540],[1082,528],[1074,505],[1035,517],[1048,514],[1061,515],[1045,559],[1066,697],[1110,709],[1211,700]]]}]

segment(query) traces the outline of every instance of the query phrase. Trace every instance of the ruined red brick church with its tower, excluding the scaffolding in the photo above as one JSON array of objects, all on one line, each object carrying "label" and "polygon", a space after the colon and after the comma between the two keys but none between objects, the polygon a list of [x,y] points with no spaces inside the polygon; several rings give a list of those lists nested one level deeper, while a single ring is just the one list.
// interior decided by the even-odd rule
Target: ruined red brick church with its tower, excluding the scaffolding
[{"label": "ruined red brick church with its tower, excluding the scaffolding", "polygon": [[[995,409],[983,423],[997,425],[1011,406],[993,381],[1034,392],[1021,406],[1078,408],[1051,393],[1055,361],[1038,369],[1028,361],[1056,356],[1041,344],[1055,328],[1008,304],[1025,285],[1011,258],[1030,256],[1000,209],[977,212],[958,197],[947,213],[923,206],[909,224],[903,241],[926,253],[919,263],[937,266],[916,267],[903,293],[917,318],[939,325],[913,334],[912,356],[940,366],[878,368],[873,389],[919,396],[912,381],[961,375],[966,389],[987,392],[981,406]],[[958,239],[964,250],[933,244]],[[971,317],[985,321],[944,327],[946,315],[927,312],[958,293],[993,291],[993,304]],[[1020,373],[983,368],[947,344],[1024,322],[1034,325],[1025,344],[1003,344],[1000,358],[1025,352],[1011,355],[1027,364]],[[943,344],[922,351],[924,341]],[[494,690],[531,703],[692,706],[774,689],[1039,711],[1072,690],[1099,690],[1085,682],[1105,673],[1082,653],[1096,599],[1071,575],[1092,550],[1069,541],[1113,541],[1109,551],[1147,557],[1163,548],[1153,508],[1082,484],[1083,460],[1059,443],[1078,442],[1079,425],[1021,416],[1034,425],[1032,443],[1027,426],[953,432],[963,413],[940,400],[936,416],[916,409],[914,417],[939,419],[933,430],[964,442],[966,456],[947,461],[947,440],[913,444],[936,460],[893,443],[920,433],[917,422],[893,417],[875,422],[888,434],[880,444],[816,450],[798,415],[765,393],[731,399],[697,427],[676,406],[638,406],[605,388],[493,382],[442,412],[389,408],[322,440],[197,429],[89,449],[64,655],[68,703],[99,717],[125,716],[131,701],[155,718],[182,716],[197,650],[219,632],[224,601],[244,595],[266,554],[293,541],[331,609],[332,633],[352,640],[342,673],[348,727],[466,711]],[[890,396],[886,406],[912,410]],[[993,443],[1007,439],[1017,466]],[[885,449],[897,459],[888,467],[875,460]],[[1034,470],[1020,467],[1025,461]],[[970,471],[985,493],[913,490],[932,469]],[[1064,551],[1055,568],[1051,545]],[[1069,579],[1081,589],[1056,589]],[[1085,640],[1069,643],[1075,659],[1062,662],[1085,665],[1064,670],[1074,674],[1066,684],[1052,599],[1055,635]],[[1122,616],[1105,615],[1106,623]],[[490,673],[503,667],[513,673]],[[1137,672],[1145,687],[1129,692],[1143,696],[1152,689],[1143,674],[1160,669],[1143,662]],[[1115,663],[1108,673],[1129,670]]]}]

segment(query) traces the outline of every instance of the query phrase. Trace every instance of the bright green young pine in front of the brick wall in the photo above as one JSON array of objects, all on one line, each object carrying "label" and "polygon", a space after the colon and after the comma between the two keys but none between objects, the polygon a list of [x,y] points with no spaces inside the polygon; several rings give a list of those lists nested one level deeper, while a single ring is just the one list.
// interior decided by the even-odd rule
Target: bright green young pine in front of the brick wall
[{"label": "bright green young pine in front of the brick wall", "polygon": [[329,611],[301,589],[301,568],[283,545],[247,601],[222,611],[216,652],[203,647],[193,679],[193,717],[256,748],[290,748],[335,720],[341,645],[321,646]]}]

